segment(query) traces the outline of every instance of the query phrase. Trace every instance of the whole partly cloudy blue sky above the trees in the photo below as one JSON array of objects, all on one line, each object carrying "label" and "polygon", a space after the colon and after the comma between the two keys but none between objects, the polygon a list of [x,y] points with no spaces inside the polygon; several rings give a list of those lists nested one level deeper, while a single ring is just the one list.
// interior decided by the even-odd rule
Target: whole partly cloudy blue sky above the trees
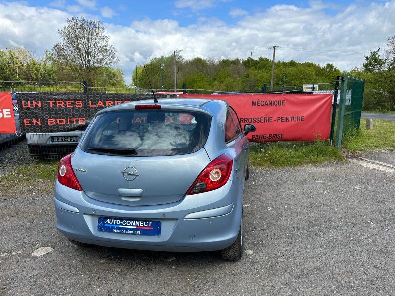
[{"label": "whole partly cloudy blue sky above the trees", "polygon": [[36,56],[59,42],[67,17],[104,23],[119,67],[132,69],[173,50],[185,59],[271,58],[360,67],[395,34],[395,0],[0,0],[0,49]]}]

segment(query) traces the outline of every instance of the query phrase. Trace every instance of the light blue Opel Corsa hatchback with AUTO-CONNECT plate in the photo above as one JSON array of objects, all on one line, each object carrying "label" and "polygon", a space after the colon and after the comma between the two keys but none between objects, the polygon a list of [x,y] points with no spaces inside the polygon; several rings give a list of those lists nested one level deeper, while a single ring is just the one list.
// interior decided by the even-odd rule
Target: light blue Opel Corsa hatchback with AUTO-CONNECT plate
[{"label": "light blue Opel Corsa hatchback with AUTO-CONNECT plate", "polygon": [[79,244],[240,259],[253,131],[221,100],[105,108],[59,162],[56,227]]}]

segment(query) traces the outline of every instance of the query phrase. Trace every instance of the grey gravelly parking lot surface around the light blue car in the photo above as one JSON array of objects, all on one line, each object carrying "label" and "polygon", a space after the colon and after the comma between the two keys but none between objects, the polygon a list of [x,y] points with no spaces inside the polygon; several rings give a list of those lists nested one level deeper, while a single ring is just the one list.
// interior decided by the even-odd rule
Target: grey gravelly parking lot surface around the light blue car
[{"label": "grey gravelly parking lot surface around the light blue car", "polygon": [[51,194],[1,196],[0,295],[394,295],[395,170],[352,161],[251,169],[237,262],[77,247]]}]

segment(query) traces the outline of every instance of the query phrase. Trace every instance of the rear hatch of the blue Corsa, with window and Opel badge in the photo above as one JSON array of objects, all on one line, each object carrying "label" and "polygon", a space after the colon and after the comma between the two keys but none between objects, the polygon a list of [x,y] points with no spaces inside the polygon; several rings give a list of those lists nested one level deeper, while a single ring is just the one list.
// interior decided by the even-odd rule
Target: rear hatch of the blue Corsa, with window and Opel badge
[{"label": "rear hatch of the blue Corsa, with window and Opel badge", "polygon": [[120,205],[179,201],[210,162],[211,116],[198,111],[102,113],[71,158],[90,198]]}]

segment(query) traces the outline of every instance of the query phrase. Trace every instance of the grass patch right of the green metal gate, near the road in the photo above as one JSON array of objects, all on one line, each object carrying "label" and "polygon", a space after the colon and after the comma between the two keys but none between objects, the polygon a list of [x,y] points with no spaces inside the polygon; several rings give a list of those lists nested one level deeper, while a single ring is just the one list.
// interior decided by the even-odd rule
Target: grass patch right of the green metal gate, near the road
[{"label": "grass patch right of the green metal gate, near the road", "polygon": [[395,147],[395,121],[373,120],[373,129],[367,130],[364,121],[354,135],[345,137],[343,147],[349,151],[363,151]]}]

